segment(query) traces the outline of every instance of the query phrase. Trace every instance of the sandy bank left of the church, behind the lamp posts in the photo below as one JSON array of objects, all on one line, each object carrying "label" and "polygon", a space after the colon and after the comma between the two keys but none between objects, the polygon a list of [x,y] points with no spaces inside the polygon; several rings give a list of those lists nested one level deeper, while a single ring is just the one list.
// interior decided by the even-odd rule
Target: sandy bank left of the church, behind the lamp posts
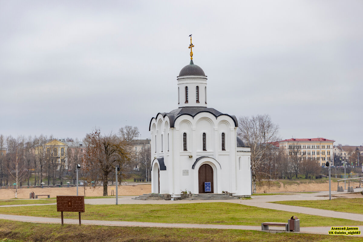
[{"label": "sandy bank left of the church, behind the lamp posts", "polygon": [[[108,186],[107,192],[108,195],[111,195],[111,190],[115,189],[115,186]],[[50,197],[56,197],[57,195],[77,195],[77,188],[21,188],[18,189],[18,198],[29,198],[29,193],[34,192],[36,195],[41,194],[49,194]],[[95,189],[86,188],[85,190],[87,197],[96,197],[102,196],[103,187],[97,186]],[[115,190],[114,190],[115,193]],[[138,196],[144,193],[151,193],[151,184],[145,185],[123,185],[118,187],[118,195],[119,196]],[[78,195],[84,195],[83,186],[78,187]],[[1,199],[11,199],[15,198],[15,190],[14,189],[0,189],[0,200]],[[44,198],[44,197],[39,197]],[[46,197],[45,197],[46,198]]]}]

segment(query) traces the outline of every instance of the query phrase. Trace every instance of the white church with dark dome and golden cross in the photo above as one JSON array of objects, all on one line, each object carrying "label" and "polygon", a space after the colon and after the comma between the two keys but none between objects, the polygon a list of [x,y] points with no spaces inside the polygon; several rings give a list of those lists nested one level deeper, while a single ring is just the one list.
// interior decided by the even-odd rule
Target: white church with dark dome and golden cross
[{"label": "white church with dark dome and golden cross", "polygon": [[178,108],[150,121],[151,192],[250,196],[250,148],[237,138],[236,116],[207,107],[207,76],[190,56],[177,77]]}]

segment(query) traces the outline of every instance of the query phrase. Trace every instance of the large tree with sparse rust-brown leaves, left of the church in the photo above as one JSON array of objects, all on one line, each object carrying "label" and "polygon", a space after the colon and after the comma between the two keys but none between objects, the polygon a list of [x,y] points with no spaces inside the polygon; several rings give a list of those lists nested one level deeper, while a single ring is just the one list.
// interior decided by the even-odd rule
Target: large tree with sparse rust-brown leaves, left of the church
[{"label": "large tree with sparse rust-brown leaves, left of the church", "polygon": [[86,155],[83,157],[85,169],[88,169],[87,172],[92,177],[101,177],[103,196],[107,196],[109,175],[115,171],[115,165],[120,166],[122,174],[123,164],[130,161],[130,153],[127,151],[129,143],[126,139],[120,140],[112,132],[101,135],[101,130],[97,128],[87,134],[84,141],[87,144]]}]

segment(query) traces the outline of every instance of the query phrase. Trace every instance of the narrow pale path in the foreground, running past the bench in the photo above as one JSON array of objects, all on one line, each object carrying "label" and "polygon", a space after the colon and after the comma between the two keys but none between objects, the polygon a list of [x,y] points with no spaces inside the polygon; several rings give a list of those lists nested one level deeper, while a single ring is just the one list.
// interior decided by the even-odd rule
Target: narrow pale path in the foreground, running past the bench
[{"label": "narrow pale path in the foreground, running past the bench", "polygon": [[[61,224],[60,218],[42,218],[31,216],[19,216],[19,215],[7,215],[0,214],[0,219],[32,222],[32,223],[55,223]],[[65,224],[78,224],[78,220],[64,219]],[[187,228],[187,229],[240,229],[240,230],[261,230],[261,226],[247,226],[247,225],[216,225],[216,224],[197,224],[197,223],[152,223],[152,222],[127,222],[127,221],[103,221],[103,220],[82,220],[83,225],[102,225],[102,226],[127,226],[127,227],[160,227],[160,228]],[[363,226],[359,227],[360,231],[363,231]],[[276,233],[285,232],[282,227],[270,226],[268,232]],[[301,227],[301,233],[309,234],[329,234],[328,231],[331,227]],[[360,235],[351,235],[357,237],[363,237]]]}]

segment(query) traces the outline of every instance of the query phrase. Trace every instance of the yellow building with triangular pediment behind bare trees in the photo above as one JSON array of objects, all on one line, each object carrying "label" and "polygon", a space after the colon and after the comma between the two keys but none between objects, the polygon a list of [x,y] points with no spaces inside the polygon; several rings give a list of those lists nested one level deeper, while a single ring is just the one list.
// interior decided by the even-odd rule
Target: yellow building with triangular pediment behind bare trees
[{"label": "yellow building with triangular pediment behind bare trees", "polygon": [[44,143],[34,145],[33,153],[35,156],[43,159],[54,160],[57,170],[60,169],[61,163],[67,167],[67,148],[68,145],[64,141],[58,139],[46,140]]}]

